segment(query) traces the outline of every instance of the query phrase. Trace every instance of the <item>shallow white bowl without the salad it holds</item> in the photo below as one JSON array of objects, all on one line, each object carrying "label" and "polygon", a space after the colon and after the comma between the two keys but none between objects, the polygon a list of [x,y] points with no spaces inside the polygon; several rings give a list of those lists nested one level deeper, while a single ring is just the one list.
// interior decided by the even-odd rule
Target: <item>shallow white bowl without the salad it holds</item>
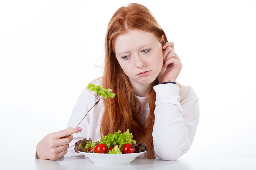
[{"label": "shallow white bowl without the salad it holds", "polygon": [[[80,152],[80,151],[79,151]],[[81,154],[87,156],[91,161],[96,164],[101,165],[126,165],[133,161],[136,157],[145,153],[127,153],[127,154],[102,154],[102,153],[87,153],[80,152]]]}]

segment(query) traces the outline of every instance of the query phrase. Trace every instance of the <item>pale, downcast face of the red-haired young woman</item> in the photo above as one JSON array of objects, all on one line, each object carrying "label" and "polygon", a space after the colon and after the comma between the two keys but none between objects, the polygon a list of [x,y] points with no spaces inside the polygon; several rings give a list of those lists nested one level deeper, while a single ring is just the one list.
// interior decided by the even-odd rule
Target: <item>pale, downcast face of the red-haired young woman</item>
[{"label": "pale, downcast face of the red-haired young woman", "polygon": [[116,38],[114,49],[133,87],[152,83],[162,69],[162,44],[153,33],[129,30]]}]

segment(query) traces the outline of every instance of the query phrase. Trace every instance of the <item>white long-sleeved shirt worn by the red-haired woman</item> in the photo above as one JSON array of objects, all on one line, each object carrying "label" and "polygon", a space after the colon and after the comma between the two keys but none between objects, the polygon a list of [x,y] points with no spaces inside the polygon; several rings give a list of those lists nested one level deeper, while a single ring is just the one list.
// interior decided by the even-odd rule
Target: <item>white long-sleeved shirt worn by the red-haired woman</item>
[{"label": "white long-sleeved shirt worn by the red-haired woman", "polygon": [[[92,84],[101,85],[101,78]],[[155,156],[156,159],[177,160],[189,150],[193,142],[199,122],[198,97],[190,86],[179,88],[176,84],[168,83],[159,84],[153,88],[156,92],[155,123],[152,133]],[[88,90],[87,87],[84,88],[72,111],[67,128],[77,126],[87,111],[95,104],[95,96],[95,92]],[[146,97],[136,97],[141,106],[144,106],[144,109],[141,109],[139,113],[143,124],[149,115],[149,103]],[[68,152],[64,155],[64,159],[88,159],[74,151],[75,142],[84,138],[91,138],[93,142],[101,139],[100,124],[104,109],[103,100],[100,100],[90,110],[79,125],[82,131],[73,134],[73,140],[69,143]],[[168,148],[165,147],[166,143],[168,143]],[[145,155],[143,154],[136,159],[145,159]]]}]

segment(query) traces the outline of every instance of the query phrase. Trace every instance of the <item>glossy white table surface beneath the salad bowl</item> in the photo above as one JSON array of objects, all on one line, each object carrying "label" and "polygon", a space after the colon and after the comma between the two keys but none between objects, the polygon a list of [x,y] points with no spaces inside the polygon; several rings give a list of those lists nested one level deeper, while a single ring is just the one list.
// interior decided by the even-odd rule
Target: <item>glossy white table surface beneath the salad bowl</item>
[{"label": "glossy white table surface beneath the salad bowl", "polygon": [[164,161],[155,159],[135,159],[128,165],[103,166],[93,163],[89,159],[64,159],[64,160],[41,160],[41,159],[1,159],[0,169],[38,169],[38,170],[219,170],[239,169],[256,170],[256,158],[254,159],[178,159],[176,161]]}]

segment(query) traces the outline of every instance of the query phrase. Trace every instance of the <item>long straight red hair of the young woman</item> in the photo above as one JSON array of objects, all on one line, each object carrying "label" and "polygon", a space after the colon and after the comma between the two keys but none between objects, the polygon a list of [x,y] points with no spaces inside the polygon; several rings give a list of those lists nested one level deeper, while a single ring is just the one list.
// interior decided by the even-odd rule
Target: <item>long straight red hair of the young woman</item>
[{"label": "long straight red hair of the young woman", "polygon": [[[155,120],[154,110],[156,94],[153,86],[159,84],[156,78],[148,90],[150,113],[144,124],[141,124],[138,113],[141,105],[135,97],[128,77],[120,67],[114,50],[114,42],[117,36],[126,33],[130,29],[139,29],[153,33],[164,44],[167,42],[165,32],[157,23],[152,13],[143,5],[137,3],[120,7],[110,19],[105,39],[105,66],[102,76],[102,87],[112,89],[117,93],[115,98],[104,100],[100,133],[101,136],[117,132],[125,132],[127,129],[133,134],[136,142],[148,146],[150,152],[146,152],[146,158],[155,159],[152,131]],[[164,41],[161,36],[164,35]]]}]

